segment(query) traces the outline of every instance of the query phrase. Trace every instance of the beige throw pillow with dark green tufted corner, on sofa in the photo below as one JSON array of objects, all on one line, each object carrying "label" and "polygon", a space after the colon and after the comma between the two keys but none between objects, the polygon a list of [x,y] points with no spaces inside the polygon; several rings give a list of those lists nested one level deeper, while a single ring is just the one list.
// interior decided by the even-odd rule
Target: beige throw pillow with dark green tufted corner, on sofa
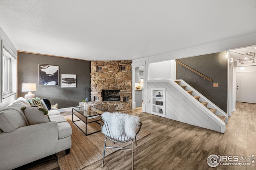
[{"label": "beige throw pillow with dark green tufted corner, on sofa", "polygon": [[48,111],[44,107],[30,107],[24,106],[20,109],[24,110],[28,123],[30,125],[38,124],[38,123],[46,123],[50,121],[48,116]]}]

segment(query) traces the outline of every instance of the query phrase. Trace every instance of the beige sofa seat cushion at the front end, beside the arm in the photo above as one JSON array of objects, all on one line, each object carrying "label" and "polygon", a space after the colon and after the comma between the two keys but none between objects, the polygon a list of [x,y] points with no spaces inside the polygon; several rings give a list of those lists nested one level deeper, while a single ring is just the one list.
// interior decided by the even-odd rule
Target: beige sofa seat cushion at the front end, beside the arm
[{"label": "beige sofa seat cushion at the front end, beside the arm", "polygon": [[70,124],[62,115],[52,115],[50,116],[51,121],[56,121],[58,123],[58,137],[59,139],[68,137],[72,134],[72,128]]}]

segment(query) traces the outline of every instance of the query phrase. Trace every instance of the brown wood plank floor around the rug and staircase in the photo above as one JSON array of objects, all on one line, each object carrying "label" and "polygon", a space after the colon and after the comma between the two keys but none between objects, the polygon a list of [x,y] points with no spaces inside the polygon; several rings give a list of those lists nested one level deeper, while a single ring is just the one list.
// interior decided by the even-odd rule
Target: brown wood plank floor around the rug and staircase
[{"label": "brown wood plank floor around the rug and staircase", "polygon": [[[141,111],[141,107],[126,111],[138,115],[142,128],[150,135],[134,147],[136,170],[255,170],[252,166],[221,166],[211,168],[206,163],[210,154],[256,155],[256,104],[236,103],[236,111],[229,118],[224,134],[158,117]],[[70,113],[64,113],[68,115]],[[129,146],[128,146],[129,147]],[[58,162],[48,158],[23,166],[24,169],[57,170]],[[131,152],[118,150],[105,157],[103,170],[128,170],[131,167]],[[101,170],[102,160],[83,170]]]}]

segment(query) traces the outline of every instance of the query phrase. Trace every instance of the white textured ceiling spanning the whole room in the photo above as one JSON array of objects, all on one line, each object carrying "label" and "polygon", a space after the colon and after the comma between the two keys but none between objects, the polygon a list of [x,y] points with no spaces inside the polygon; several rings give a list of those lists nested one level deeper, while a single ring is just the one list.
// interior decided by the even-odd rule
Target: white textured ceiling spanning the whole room
[{"label": "white textured ceiling spanning the whole room", "polygon": [[19,51],[138,59],[256,31],[255,0],[0,0]]}]

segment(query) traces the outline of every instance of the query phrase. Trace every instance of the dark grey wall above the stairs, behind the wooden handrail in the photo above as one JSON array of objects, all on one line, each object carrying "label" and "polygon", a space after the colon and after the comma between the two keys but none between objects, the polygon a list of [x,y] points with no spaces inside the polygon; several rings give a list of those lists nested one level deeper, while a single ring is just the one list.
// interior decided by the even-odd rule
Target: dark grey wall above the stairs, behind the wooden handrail
[{"label": "dark grey wall above the stairs, behind the wooden handrail", "polygon": [[[178,63],[176,63],[176,78],[182,79],[190,84],[198,92],[227,113],[228,68],[225,52],[189,57],[179,59],[178,61],[212,79],[212,82],[204,80],[204,78],[198,74],[194,72],[192,73]],[[218,83],[218,87],[213,87],[213,83]]]}]

